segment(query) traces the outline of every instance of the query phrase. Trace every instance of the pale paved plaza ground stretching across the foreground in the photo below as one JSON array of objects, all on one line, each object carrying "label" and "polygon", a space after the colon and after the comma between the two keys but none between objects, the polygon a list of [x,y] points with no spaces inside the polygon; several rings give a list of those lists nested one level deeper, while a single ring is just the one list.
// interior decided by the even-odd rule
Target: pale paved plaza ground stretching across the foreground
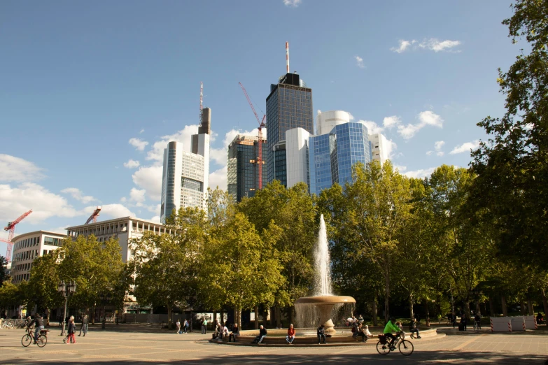
[{"label": "pale paved plaza ground stretching across the foreground", "polygon": [[545,331],[463,334],[441,329],[447,336],[412,340],[415,351],[410,357],[397,351],[383,357],[373,345],[219,345],[207,341],[211,334],[178,335],[175,331],[134,324],[92,328],[87,336],[76,336],[76,344],[65,345],[57,327],[50,330],[45,348],[22,347],[23,329],[0,330],[0,364],[544,364],[548,358]]}]

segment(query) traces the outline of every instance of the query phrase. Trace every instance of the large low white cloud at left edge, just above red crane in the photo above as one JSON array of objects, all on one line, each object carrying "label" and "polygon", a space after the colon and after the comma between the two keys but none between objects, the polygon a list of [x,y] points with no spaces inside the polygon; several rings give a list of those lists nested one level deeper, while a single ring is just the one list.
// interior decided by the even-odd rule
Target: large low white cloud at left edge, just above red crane
[{"label": "large low white cloud at left edge, just above red crane", "polygon": [[22,183],[17,187],[0,185],[0,221],[10,222],[32,209],[24,222],[36,224],[50,217],[76,217],[85,215],[76,210],[60,195],[35,183]]}]

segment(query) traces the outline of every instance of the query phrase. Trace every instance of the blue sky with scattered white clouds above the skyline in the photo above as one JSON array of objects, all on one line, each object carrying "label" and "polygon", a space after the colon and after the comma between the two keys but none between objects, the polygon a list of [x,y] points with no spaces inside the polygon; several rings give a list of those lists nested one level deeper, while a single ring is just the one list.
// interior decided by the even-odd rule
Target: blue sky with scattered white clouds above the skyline
[{"label": "blue sky with scattered white clouds above the skyline", "polygon": [[511,14],[500,0],[1,1],[0,224],[32,209],[16,235],[64,232],[98,205],[98,220],[159,221],[162,152],[190,150],[200,82],[210,186],[226,188],[228,143],[258,126],[238,83],[262,116],[286,41],[314,110],[383,133],[402,173],[468,166],[477,122],[504,113],[497,69],[523,46]]}]

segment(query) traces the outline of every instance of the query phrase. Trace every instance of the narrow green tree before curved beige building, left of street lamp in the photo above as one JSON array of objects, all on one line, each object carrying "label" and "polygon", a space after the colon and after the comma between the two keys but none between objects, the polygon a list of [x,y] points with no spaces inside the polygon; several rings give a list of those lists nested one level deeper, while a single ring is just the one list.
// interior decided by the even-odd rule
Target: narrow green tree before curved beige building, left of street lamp
[{"label": "narrow green tree before curved beige building, left of street lamp", "polygon": [[27,285],[27,299],[30,306],[38,306],[48,313],[47,323],[50,322],[50,311],[62,305],[63,299],[57,291],[59,285],[59,264],[57,255],[44,255],[34,259]]}]

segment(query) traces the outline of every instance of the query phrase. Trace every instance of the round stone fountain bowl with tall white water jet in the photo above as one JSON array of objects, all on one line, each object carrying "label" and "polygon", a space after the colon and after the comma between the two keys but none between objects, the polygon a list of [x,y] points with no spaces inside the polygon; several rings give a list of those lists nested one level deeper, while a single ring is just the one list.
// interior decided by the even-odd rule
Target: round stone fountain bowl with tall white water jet
[{"label": "round stone fountain bowl with tall white water jet", "polygon": [[[334,335],[335,324],[331,317],[333,308],[342,304],[356,303],[351,296],[336,296],[331,292],[331,260],[328,248],[328,233],[325,229],[323,215],[320,217],[318,244],[314,250],[316,275],[314,280],[314,296],[304,296],[295,301],[297,317],[319,317],[319,323],[325,326],[325,333]],[[315,322],[315,321],[313,321]]]}]

